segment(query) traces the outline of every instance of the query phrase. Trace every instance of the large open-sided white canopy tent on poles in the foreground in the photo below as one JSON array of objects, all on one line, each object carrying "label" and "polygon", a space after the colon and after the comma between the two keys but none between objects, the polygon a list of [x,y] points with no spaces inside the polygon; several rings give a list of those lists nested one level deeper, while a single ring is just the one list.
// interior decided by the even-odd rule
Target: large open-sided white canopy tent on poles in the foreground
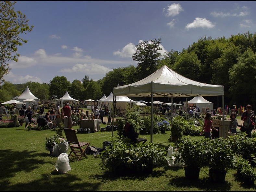
[{"label": "large open-sided white canopy tent on poles in the foreground", "polygon": [[[151,97],[151,142],[153,130],[153,97],[197,97],[222,95],[224,108],[224,86],[211,85],[186,78],[167,66],[129,85],[114,87],[114,96]],[[173,107],[171,109],[173,111]],[[224,121],[224,118],[223,118]],[[112,132],[113,136],[113,132]]]}]

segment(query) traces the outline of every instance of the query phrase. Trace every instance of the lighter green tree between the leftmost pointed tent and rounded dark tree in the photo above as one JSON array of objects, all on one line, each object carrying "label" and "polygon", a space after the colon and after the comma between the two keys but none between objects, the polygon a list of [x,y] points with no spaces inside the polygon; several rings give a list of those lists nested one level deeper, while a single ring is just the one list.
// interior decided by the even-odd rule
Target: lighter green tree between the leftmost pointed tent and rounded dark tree
[{"label": "lighter green tree between the leftmost pointed tent and rounded dark tree", "polygon": [[38,82],[27,82],[26,87],[29,87],[31,93],[36,96],[40,101],[49,99],[49,85],[46,83],[38,83]]}]

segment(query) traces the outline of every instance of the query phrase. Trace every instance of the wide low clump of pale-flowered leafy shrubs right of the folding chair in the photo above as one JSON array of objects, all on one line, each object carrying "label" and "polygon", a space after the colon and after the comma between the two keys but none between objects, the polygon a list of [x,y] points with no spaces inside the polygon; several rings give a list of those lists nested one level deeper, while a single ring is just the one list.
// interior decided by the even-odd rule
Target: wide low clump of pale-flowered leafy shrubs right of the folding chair
[{"label": "wide low clump of pale-flowered leafy shrubs right of the folding chair", "polygon": [[167,151],[152,143],[130,144],[116,136],[100,155],[102,166],[116,174],[151,173],[154,165],[164,165]]}]

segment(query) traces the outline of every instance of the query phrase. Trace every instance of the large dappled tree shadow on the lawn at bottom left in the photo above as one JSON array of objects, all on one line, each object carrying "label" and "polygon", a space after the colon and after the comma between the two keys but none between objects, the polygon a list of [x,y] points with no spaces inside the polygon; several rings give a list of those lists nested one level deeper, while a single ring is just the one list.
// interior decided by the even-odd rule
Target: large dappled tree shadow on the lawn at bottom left
[{"label": "large dappled tree shadow on the lawn at bottom left", "polygon": [[[33,172],[40,169],[42,164],[52,164],[38,157],[52,157],[49,153],[37,153],[36,151],[0,150],[0,191],[91,191],[97,190],[100,182],[81,182],[81,179],[72,174],[60,174],[55,169],[49,174],[40,174],[40,179],[31,182],[24,178],[24,182],[11,185],[12,177],[22,172]],[[53,157],[56,158],[56,157]],[[23,174],[24,175],[24,174]],[[79,182],[80,181],[80,182]]]}]

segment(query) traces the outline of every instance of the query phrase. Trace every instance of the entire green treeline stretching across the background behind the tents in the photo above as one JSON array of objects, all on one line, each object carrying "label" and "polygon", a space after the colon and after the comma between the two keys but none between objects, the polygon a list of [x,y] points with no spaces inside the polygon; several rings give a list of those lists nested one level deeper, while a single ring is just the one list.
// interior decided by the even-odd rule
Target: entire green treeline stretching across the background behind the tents
[{"label": "entire green treeline stretching across the background behind the tents", "polygon": [[[249,31],[231,35],[230,38],[202,37],[181,52],[170,50],[161,55],[161,39],[144,41],[136,45],[136,53],[132,55],[138,62],[127,67],[114,68],[97,81],[89,76],[69,82],[64,76],[56,76],[49,84],[27,82],[12,84],[4,82],[0,89],[0,101],[8,101],[19,96],[28,86],[30,91],[40,100],[61,98],[66,91],[78,100],[98,100],[107,97],[119,84],[134,83],[152,74],[163,65],[180,75],[202,83],[223,85],[225,105],[233,108],[252,104],[255,106],[256,78],[256,34]],[[214,103],[214,108],[221,105],[221,97],[204,97]],[[150,98],[131,98],[135,101],[150,102]],[[188,98],[188,101],[192,98]],[[157,98],[158,101],[170,102],[169,98]],[[174,102],[186,101],[186,98],[174,98]]]}]

